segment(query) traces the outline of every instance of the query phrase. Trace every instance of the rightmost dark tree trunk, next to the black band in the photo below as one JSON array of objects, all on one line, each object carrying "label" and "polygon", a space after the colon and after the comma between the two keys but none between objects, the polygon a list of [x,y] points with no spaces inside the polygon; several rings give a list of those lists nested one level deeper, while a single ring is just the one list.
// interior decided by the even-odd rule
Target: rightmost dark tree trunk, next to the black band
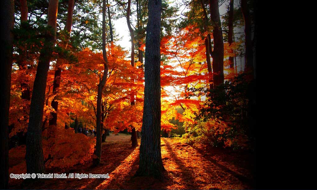
[{"label": "rightmost dark tree trunk, next to the black band", "polygon": [[244,19],[244,33],[245,33],[245,59],[244,72],[253,76],[253,44],[252,44],[252,28],[251,18],[248,8],[247,0],[241,0],[241,10]]}]

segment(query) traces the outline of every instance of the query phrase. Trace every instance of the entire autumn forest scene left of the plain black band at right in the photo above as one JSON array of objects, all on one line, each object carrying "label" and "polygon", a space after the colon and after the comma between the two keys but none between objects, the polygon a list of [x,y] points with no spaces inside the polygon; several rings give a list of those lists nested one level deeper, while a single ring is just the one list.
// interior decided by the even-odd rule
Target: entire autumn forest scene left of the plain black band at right
[{"label": "entire autumn forest scene left of the plain black band at right", "polygon": [[1,189],[256,188],[256,1],[2,4]]}]

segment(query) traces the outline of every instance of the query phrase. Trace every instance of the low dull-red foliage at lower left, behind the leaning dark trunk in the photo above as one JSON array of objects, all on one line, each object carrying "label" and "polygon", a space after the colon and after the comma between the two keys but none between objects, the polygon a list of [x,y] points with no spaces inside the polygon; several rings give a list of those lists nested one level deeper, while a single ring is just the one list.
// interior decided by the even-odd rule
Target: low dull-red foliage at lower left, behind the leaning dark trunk
[{"label": "low dull-red foliage at lower left, behind the leaning dark trunk", "polygon": [[[52,140],[52,139],[49,139]],[[46,168],[67,169],[76,164],[83,164],[92,158],[95,139],[84,134],[75,134],[72,129],[58,129],[55,139],[54,159],[48,159],[48,140],[43,139],[44,160]],[[26,173],[25,145],[17,146],[9,151],[11,173]]]}]

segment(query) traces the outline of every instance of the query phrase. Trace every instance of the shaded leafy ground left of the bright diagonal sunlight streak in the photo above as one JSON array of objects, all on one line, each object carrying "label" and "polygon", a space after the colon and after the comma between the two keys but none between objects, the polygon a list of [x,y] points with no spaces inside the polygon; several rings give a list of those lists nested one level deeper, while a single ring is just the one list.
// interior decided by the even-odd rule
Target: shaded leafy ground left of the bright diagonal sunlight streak
[{"label": "shaded leafy ground left of the bright diagonal sunlight streak", "polygon": [[[93,173],[93,174],[107,174],[113,172],[121,162],[125,160],[136,147],[131,147],[130,140],[125,140],[118,143],[109,142],[102,146],[101,163],[100,166],[93,167],[92,162],[87,162],[82,165],[73,166],[67,171],[58,172],[47,170],[47,173]],[[87,178],[87,179],[45,179],[27,186],[20,184],[14,186],[13,189],[94,189],[102,181],[107,180],[103,178]]]}]

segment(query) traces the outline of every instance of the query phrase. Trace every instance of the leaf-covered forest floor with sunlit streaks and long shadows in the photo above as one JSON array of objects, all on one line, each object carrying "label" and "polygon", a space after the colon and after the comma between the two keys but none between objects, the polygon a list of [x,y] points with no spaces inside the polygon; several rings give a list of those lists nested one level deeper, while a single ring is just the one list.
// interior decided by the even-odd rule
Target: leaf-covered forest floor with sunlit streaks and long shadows
[{"label": "leaf-covered forest floor with sunlit streaks and long shadows", "polygon": [[[89,137],[90,135],[88,135]],[[94,135],[91,136],[94,138]],[[133,177],[139,165],[139,146],[132,148],[131,135],[110,133],[102,145],[102,162],[48,173],[107,174],[109,179],[45,179],[23,185],[11,179],[10,189],[255,189],[254,155],[208,146],[190,146],[178,139],[161,138],[165,166],[163,181]],[[140,145],[140,139],[138,139]]]}]

